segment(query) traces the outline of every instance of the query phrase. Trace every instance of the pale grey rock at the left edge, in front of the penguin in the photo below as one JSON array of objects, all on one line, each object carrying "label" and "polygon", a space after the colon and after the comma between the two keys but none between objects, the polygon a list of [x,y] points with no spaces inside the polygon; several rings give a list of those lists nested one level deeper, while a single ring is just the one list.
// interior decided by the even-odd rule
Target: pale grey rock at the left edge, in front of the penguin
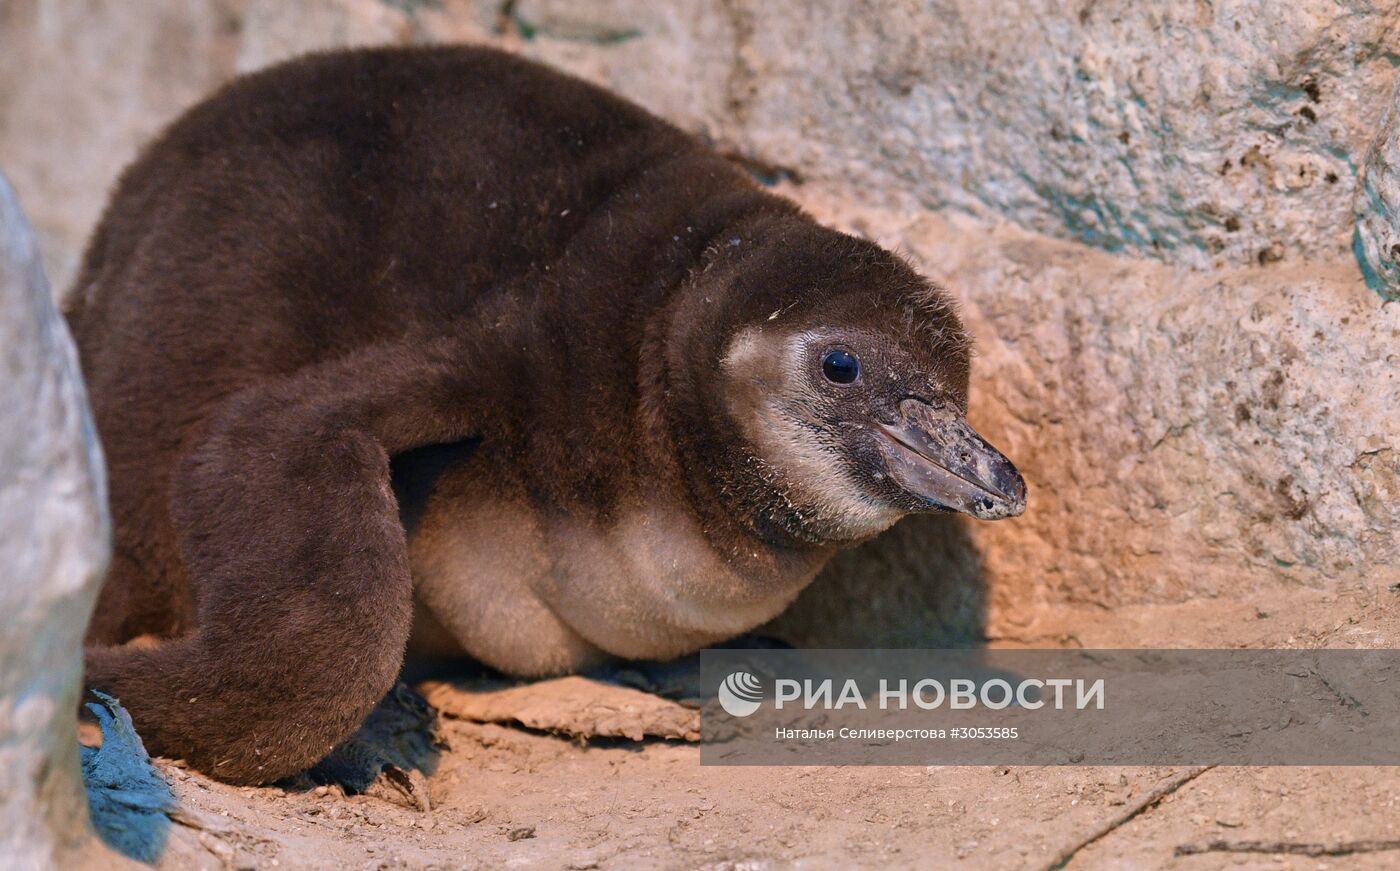
[{"label": "pale grey rock at the left edge, in front of the penguin", "polygon": [[[83,629],[108,559],[102,461],[67,328],[0,176],[0,856],[97,847],[78,779]],[[111,867],[111,865],[109,865]]]}]

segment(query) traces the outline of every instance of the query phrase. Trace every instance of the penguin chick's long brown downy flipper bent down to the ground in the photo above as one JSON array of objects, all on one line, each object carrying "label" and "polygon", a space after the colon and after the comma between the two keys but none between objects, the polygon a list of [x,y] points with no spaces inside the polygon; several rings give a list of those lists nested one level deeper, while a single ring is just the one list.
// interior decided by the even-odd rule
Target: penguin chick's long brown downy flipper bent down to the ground
[{"label": "penguin chick's long brown downy flipper bent down to the ground", "polygon": [[174,480],[195,630],[87,651],[154,753],[267,783],[360,727],[412,623],[389,458],[482,431],[483,358],[465,336],[377,346],[225,402]]}]

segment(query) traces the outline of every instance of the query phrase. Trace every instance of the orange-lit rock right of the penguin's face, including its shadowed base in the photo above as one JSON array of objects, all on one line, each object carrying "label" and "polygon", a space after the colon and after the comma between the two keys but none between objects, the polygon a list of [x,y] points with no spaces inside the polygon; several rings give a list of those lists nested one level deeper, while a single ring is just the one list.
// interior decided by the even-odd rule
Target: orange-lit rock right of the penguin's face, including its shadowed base
[{"label": "orange-lit rock right of the penguin's face, including its shadowed base", "polygon": [[[1400,307],[1354,263],[1183,273],[799,199],[966,301],[972,416],[1030,503],[1014,521],[876,539],[802,594],[785,634],[956,643],[981,618],[1029,637],[1057,609],[1400,583]],[[878,616],[851,629],[851,602]]]}]

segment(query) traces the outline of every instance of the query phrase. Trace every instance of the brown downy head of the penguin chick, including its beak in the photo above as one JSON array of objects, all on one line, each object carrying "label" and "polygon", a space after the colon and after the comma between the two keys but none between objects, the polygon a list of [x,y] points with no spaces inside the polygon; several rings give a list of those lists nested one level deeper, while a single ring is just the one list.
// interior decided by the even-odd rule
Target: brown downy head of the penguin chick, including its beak
[{"label": "brown downy head of the penguin chick, including its beak", "polygon": [[939,288],[805,221],[725,244],[697,279],[714,315],[692,337],[699,426],[728,430],[711,433],[722,486],[759,525],[841,543],[911,513],[1025,510],[1021,473],[965,417],[972,347]]}]

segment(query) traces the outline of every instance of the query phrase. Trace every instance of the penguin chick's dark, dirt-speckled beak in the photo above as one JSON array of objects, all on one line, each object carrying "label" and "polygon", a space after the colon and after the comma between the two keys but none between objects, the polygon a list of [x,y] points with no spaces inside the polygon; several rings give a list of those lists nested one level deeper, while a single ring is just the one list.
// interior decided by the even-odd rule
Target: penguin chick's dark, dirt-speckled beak
[{"label": "penguin chick's dark, dirt-speckled beak", "polygon": [[979,520],[1016,517],[1026,510],[1021,472],[956,410],[904,399],[899,419],[879,428],[890,478],[931,507]]}]

